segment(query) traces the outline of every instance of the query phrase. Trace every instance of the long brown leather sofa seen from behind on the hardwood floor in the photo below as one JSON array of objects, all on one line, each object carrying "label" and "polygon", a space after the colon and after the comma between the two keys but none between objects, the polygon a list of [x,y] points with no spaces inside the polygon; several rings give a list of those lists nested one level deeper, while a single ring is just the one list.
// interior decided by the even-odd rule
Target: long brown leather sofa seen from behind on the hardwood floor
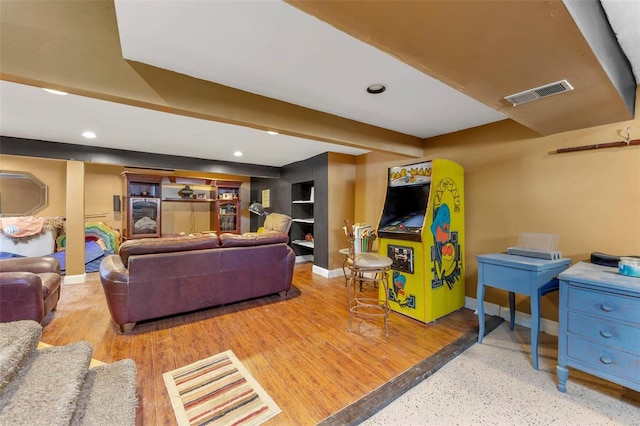
[{"label": "long brown leather sofa seen from behind on the hardwood floor", "polygon": [[128,240],[100,265],[111,317],[121,332],[138,321],[291,288],[295,254],[282,233],[198,234]]}]

